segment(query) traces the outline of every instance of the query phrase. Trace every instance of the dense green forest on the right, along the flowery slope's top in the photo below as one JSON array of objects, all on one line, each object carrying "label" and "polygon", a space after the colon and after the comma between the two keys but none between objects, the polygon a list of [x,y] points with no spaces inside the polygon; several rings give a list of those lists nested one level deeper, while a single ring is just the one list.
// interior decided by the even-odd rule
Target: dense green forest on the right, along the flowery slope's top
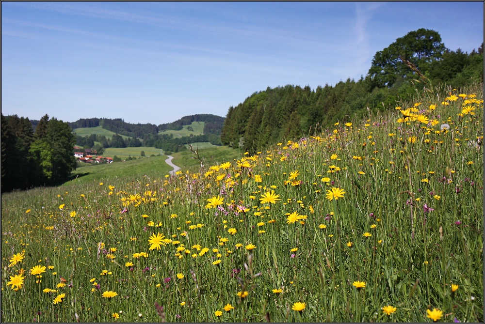
[{"label": "dense green forest on the right, along the flowery slope's top", "polygon": [[412,31],[377,52],[368,75],[358,81],[349,78],[315,90],[268,87],[253,93],[229,108],[221,140],[255,153],[270,143],[305,136],[317,126],[362,117],[368,109],[394,108],[396,102],[411,99],[416,89],[437,84],[459,89],[483,82],[483,63],[483,43],[467,54],[445,48],[436,31]]}]

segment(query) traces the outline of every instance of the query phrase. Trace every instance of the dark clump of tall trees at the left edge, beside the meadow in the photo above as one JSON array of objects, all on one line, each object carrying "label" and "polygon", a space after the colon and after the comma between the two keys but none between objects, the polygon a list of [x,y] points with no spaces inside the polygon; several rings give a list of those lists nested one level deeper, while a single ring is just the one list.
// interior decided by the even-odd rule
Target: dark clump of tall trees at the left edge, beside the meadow
[{"label": "dark clump of tall trees at the left edge, beside the meadow", "polygon": [[35,133],[28,118],[1,114],[1,192],[54,185],[76,169],[68,123],[45,115]]}]

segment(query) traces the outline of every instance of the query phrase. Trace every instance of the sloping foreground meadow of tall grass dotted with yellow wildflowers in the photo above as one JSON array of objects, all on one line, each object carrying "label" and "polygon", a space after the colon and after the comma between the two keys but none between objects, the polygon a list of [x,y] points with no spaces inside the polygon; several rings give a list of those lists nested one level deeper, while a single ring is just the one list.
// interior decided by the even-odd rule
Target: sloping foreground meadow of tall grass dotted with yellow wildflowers
[{"label": "sloping foreground meadow of tall grass dotted with yellow wildflowers", "polygon": [[483,84],[396,106],[2,195],[1,320],[483,322]]}]

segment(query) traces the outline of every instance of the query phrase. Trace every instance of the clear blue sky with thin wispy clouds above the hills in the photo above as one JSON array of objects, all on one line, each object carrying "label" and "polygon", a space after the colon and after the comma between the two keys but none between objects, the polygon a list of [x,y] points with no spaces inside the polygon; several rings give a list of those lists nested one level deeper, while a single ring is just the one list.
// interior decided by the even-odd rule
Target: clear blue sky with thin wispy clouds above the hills
[{"label": "clear blue sky with thin wispy clouds above the hills", "polygon": [[484,40],[484,2],[1,2],[3,115],[170,123],[365,76],[409,31]]}]

